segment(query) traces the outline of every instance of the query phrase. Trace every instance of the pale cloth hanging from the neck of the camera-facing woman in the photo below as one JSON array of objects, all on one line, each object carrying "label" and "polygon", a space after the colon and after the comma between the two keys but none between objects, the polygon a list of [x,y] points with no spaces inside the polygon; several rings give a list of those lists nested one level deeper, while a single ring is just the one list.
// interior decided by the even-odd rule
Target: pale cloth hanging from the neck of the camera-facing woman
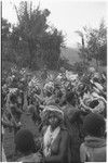
[{"label": "pale cloth hanging from the neck of the camera-facing woman", "polygon": [[44,143],[43,153],[45,156],[51,155],[51,146],[54,142],[54,140],[56,139],[56,137],[58,136],[59,131],[60,131],[59,126],[57,128],[55,128],[54,131],[51,131],[51,126],[48,127],[46,133],[44,135],[44,139],[43,139],[43,143]]}]

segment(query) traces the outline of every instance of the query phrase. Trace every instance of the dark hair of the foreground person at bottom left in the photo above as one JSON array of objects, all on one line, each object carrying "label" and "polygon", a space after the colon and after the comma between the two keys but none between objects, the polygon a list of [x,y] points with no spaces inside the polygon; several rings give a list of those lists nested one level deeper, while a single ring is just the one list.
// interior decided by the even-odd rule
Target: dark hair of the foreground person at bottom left
[{"label": "dark hair of the foreground person at bottom left", "polygon": [[32,133],[28,129],[18,130],[15,136],[15,146],[16,150],[18,150],[23,154],[36,152]]}]

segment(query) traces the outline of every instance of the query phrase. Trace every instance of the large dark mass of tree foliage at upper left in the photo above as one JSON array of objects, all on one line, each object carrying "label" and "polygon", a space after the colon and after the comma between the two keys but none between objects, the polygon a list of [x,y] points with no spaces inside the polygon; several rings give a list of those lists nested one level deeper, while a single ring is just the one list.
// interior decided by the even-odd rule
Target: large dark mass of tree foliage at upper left
[{"label": "large dark mass of tree foliage at upper left", "polygon": [[9,32],[5,20],[2,24],[2,28],[5,26],[3,37],[10,34],[9,41],[2,42],[3,59],[31,70],[44,65],[49,68],[57,68],[64,36],[62,32],[48,24],[50,11],[48,9],[41,11],[39,5],[33,9],[32,3],[27,1],[22,1],[19,8],[15,7],[15,10],[18,23],[13,25],[12,32]]}]

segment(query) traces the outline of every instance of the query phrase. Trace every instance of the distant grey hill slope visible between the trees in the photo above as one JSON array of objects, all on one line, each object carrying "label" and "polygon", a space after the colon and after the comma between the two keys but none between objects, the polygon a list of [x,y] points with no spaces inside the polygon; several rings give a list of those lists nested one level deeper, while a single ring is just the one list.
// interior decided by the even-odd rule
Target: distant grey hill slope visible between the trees
[{"label": "distant grey hill slope visible between the trees", "polygon": [[70,64],[73,64],[75,62],[81,61],[81,59],[79,58],[79,54],[78,54],[78,49],[63,48],[60,55],[68,59]]}]

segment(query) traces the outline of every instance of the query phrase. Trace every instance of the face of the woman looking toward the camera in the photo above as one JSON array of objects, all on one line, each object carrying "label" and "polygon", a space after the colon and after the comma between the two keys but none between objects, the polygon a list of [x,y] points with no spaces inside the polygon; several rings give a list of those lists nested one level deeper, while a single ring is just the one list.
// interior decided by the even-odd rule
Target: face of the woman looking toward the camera
[{"label": "face of the woman looking toward the camera", "polygon": [[52,128],[56,128],[58,126],[58,118],[55,116],[54,113],[51,113],[50,114],[50,117],[49,117],[49,123],[51,125]]}]

